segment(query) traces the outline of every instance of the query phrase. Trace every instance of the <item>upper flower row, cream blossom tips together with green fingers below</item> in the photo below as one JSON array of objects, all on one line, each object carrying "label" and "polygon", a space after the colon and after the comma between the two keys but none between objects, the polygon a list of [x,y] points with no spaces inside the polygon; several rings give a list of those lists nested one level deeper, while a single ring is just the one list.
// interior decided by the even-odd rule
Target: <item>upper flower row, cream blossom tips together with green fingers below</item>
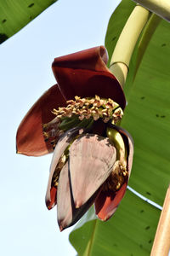
[{"label": "upper flower row, cream blossom tips together with green fingers below", "polygon": [[111,120],[116,124],[122,119],[123,111],[113,100],[94,98],[81,98],[75,96],[75,101],[66,102],[67,106],[53,110],[56,117],[42,125],[43,136],[46,142],[50,142],[54,147],[57,138],[74,126],[88,127],[93,125],[94,121],[102,119],[104,123]]}]

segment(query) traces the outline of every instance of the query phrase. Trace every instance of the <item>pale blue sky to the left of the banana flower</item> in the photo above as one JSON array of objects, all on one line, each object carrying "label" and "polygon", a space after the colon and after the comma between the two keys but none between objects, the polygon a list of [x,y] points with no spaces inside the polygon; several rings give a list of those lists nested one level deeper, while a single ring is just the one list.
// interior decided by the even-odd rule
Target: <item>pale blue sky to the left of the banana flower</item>
[{"label": "pale blue sky to the left of the banana flower", "polygon": [[[54,57],[105,44],[118,0],[59,0],[0,45],[1,179],[0,252],[4,256],[73,255],[72,228],[59,232],[56,210],[45,207],[52,154],[15,154],[21,119],[55,84]],[[36,127],[35,127],[36,128]]]}]

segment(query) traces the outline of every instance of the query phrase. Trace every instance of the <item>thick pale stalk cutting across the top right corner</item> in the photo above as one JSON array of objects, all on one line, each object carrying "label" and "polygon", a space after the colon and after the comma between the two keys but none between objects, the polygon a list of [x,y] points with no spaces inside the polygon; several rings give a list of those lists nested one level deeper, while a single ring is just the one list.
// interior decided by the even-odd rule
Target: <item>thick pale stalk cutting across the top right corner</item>
[{"label": "thick pale stalk cutting across the top right corner", "polygon": [[170,21],[170,1],[169,0],[133,0],[141,4],[151,12],[161,16],[164,20]]}]

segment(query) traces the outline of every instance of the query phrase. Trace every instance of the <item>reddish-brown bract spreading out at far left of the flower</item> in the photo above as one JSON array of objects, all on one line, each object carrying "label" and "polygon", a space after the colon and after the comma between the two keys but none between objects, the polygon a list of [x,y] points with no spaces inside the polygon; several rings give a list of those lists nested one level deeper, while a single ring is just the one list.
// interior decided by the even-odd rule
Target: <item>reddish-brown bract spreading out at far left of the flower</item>
[{"label": "reddish-brown bract spreading out at far left of the flower", "polygon": [[51,113],[54,108],[64,105],[65,98],[55,84],[37,100],[21,121],[16,136],[17,153],[38,156],[53,151],[53,146],[44,142],[42,124],[54,119]]}]

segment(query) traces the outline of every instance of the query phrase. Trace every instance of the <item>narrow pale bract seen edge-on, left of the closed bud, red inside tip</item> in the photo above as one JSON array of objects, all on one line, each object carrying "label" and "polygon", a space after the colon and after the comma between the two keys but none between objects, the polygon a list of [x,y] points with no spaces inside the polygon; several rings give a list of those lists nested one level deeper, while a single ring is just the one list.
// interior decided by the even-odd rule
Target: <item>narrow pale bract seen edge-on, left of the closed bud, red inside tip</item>
[{"label": "narrow pale bract seen edge-on, left of the closed bud, red inside tip", "polygon": [[59,138],[59,142],[57,143],[54,149],[54,155],[52,158],[51,166],[50,166],[50,174],[48,178],[48,188],[46,193],[46,206],[48,210],[52,209],[56,204],[56,195],[57,189],[52,186],[52,178],[54,176],[55,167],[59,162],[59,158],[64,153],[65,148],[71,143],[71,140],[77,136],[79,128],[73,128],[67,132],[63,136]]}]

